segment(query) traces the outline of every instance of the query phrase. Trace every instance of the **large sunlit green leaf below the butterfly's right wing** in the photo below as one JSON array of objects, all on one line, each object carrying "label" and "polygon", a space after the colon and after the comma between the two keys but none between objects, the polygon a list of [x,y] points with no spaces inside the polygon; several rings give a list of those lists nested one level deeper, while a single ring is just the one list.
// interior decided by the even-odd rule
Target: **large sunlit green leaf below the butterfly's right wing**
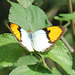
[{"label": "large sunlit green leaf below the butterfly's right wing", "polygon": [[[40,53],[41,54],[41,53]],[[51,58],[57,62],[68,74],[72,73],[72,57],[66,46],[59,40],[47,53],[42,53],[43,58]]]}]

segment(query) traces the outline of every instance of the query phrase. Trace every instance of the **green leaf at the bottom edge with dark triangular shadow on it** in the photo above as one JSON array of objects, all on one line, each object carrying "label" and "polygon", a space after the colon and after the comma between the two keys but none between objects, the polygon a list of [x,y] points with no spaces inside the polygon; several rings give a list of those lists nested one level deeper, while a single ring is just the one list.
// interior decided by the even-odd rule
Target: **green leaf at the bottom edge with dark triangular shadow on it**
[{"label": "green leaf at the bottom edge with dark triangular shadow on it", "polygon": [[52,75],[49,70],[42,66],[21,66],[14,69],[9,75]]}]

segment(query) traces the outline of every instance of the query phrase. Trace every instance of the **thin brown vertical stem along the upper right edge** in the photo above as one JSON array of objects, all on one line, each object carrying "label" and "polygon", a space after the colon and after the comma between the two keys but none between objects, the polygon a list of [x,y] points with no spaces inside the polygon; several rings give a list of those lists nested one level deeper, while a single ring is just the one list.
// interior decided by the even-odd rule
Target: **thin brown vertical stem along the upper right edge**
[{"label": "thin brown vertical stem along the upper right edge", "polygon": [[[68,2],[69,13],[72,14],[73,13],[73,10],[72,10],[71,0],[67,0],[67,2]],[[73,47],[74,47],[74,53],[73,53],[73,55],[75,55],[75,25],[74,25],[73,20],[71,20],[71,30],[72,30]]]}]

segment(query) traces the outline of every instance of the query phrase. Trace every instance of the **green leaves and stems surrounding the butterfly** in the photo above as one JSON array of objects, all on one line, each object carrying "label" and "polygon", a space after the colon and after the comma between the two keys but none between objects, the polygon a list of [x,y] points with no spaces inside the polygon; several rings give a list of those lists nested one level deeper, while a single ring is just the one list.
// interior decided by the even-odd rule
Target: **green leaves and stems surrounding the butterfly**
[{"label": "green leaves and stems surrounding the butterfly", "polygon": [[[0,75],[75,75],[75,13],[71,0],[12,1],[7,0],[11,7],[8,20],[3,21],[6,30],[0,26]],[[72,2],[75,4],[74,0]],[[69,12],[67,9],[67,13],[62,14],[61,8],[65,6]],[[28,52],[12,33],[6,33],[7,21],[32,32],[58,24],[68,30],[49,51]]]}]

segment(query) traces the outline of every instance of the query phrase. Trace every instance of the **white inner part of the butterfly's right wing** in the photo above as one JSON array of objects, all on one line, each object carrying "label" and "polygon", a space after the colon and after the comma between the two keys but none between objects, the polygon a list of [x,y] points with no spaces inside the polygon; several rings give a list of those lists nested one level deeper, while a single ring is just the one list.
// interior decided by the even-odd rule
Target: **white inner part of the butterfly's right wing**
[{"label": "white inner part of the butterfly's right wing", "polygon": [[49,48],[52,44],[49,43],[46,32],[44,30],[38,30],[32,34],[33,48],[36,51],[43,52]]}]

